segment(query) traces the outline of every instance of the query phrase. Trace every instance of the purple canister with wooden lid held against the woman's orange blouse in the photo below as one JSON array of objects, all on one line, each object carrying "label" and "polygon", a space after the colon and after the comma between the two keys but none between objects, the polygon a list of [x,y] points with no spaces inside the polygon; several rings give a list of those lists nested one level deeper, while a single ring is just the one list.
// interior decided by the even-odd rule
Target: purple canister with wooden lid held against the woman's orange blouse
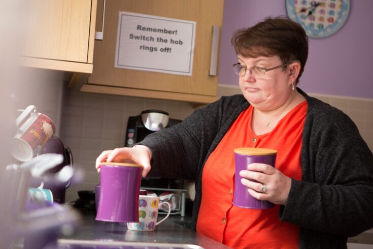
[{"label": "purple canister with wooden lid held against the woman's orange blouse", "polygon": [[243,177],[240,176],[241,170],[246,170],[252,163],[263,163],[275,167],[277,150],[265,148],[235,148],[235,177],[233,205],[243,208],[267,209],[275,206],[272,202],[261,201],[252,197],[247,191],[248,188],[241,183]]}]

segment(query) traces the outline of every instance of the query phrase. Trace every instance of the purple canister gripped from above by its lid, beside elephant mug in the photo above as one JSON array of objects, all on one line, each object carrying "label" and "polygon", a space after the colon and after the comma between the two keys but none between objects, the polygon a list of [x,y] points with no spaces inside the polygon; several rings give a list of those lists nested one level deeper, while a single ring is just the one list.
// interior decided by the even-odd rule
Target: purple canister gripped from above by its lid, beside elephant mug
[{"label": "purple canister gripped from above by its lid, beside elephant mug", "polygon": [[138,222],[139,192],[143,166],[101,163],[96,220]]}]

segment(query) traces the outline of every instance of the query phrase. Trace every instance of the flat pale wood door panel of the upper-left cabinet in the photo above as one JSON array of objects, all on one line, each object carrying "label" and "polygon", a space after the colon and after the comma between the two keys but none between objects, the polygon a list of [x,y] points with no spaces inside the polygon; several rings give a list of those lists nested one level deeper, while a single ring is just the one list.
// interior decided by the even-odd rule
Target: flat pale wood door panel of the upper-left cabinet
[{"label": "flat pale wood door panel of the upper-left cabinet", "polygon": [[32,0],[29,8],[30,35],[23,55],[92,63],[88,61],[92,0]]}]

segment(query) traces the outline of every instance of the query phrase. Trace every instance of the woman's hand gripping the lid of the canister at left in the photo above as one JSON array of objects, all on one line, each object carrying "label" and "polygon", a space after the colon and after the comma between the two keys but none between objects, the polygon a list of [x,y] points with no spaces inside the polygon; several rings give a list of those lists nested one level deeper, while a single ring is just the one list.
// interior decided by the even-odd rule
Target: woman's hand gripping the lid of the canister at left
[{"label": "woman's hand gripping the lid of the canister at left", "polygon": [[150,160],[152,158],[150,149],[144,145],[135,145],[132,148],[123,147],[113,150],[103,151],[96,159],[96,169],[100,171],[100,163],[102,162],[115,162],[115,163],[128,163],[135,162],[144,166],[143,177],[145,177],[150,169]]}]

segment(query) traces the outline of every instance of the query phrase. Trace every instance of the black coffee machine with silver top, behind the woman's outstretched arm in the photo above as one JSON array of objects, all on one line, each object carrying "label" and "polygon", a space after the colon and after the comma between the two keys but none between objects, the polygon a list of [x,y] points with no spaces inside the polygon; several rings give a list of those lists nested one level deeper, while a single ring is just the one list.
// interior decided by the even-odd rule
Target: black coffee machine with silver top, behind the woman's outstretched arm
[{"label": "black coffee machine with silver top, behind the woman's outstretched arm", "polygon": [[[146,136],[164,128],[172,127],[182,120],[169,118],[168,113],[161,110],[145,110],[138,116],[128,117],[127,130],[124,145],[132,147],[142,141]],[[184,181],[181,179],[168,179],[150,177],[142,179],[144,188],[180,189]]]}]

